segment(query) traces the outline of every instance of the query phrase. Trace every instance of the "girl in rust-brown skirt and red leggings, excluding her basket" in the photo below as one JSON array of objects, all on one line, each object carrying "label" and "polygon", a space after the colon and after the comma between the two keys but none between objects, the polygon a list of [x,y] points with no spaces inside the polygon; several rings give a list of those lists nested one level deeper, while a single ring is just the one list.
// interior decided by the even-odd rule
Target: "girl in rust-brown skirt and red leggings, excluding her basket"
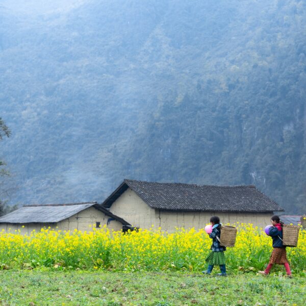
[{"label": "girl in rust-brown skirt and red leggings, excluding her basket", "polygon": [[278,216],[271,217],[272,226],[269,228],[269,236],[272,237],[273,251],[271,253],[269,264],[265,271],[259,271],[260,274],[268,275],[274,264],[284,265],[288,277],[292,277],[289,263],[287,260],[286,246],[283,246],[283,222]]}]

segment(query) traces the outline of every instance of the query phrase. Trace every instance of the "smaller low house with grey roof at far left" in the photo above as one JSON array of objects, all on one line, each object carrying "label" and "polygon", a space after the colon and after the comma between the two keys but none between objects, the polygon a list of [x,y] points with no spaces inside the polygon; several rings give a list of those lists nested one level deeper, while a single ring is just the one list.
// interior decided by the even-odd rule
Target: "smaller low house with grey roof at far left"
[{"label": "smaller low house with grey roof at far left", "polygon": [[131,224],[98,205],[97,202],[84,202],[60,205],[23,206],[5,216],[0,217],[0,231],[20,230],[22,234],[42,227],[57,228],[62,231],[91,231],[95,227],[104,226],[110,230],[120,231],[130,228]]}]

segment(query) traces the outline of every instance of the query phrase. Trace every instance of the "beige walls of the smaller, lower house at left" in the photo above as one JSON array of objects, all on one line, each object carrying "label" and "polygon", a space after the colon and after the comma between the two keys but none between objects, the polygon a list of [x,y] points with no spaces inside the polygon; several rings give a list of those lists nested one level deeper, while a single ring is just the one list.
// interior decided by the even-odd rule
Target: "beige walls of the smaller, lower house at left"
[{"label": "beige walls of the smaller, lower house at left", "polygon": [[[119,221],[110,220],[110,217],[105,215],[103,212],[95,209],[94,207],[90,207],[58,223],[0,223],[0,231],[4,229],[5,232],[9,232],[9,229],[11,229],[10,232],[15,233],[15,230],[20,230],[21,234],[25,234],[31,233],[33,230],[39,232],[44,226],[50,226],[51,228],[62,231],[73,231],[75,228],[80,231],[92,231],[92,227],[89,225],[95,225],[96,222],[100,222],[101,226],[107,224],[107,227],[110,230],[122,230],[122,224]],[[22,225],[24,225],[24,227],[22,227]]]}]

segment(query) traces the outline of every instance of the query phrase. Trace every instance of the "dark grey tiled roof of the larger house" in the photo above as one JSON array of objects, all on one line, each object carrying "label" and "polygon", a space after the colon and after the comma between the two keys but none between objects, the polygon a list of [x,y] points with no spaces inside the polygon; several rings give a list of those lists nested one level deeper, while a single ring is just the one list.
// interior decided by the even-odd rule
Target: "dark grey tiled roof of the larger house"
[{"label": "dark grey tiled roof of the larger house", "polygon": [[170,211],[273,212],[284,211],[255,186],[210,186],[124,180],[102,203],[112,203],[131,188],[147,205]]}]

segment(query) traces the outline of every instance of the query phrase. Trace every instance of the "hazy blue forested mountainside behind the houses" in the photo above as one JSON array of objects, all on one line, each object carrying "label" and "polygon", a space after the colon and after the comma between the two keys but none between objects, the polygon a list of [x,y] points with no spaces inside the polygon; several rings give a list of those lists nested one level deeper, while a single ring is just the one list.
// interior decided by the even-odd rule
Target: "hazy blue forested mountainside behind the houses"
[{"label": "hazy blue forested mountainside behind the houses", "polygon": [[255,184],[303,213],[305,56],[305,1],[5,0],[10,202],[101,201],[127,177]]}]

